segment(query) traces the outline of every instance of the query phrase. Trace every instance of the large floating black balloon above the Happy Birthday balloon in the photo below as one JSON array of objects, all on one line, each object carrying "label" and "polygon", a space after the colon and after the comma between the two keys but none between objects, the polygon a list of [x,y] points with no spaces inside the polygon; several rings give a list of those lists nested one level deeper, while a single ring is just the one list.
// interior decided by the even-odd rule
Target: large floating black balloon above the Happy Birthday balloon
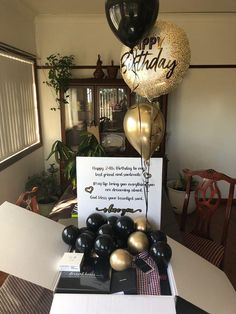
[{"label": "large floating black balloon above the Happy Birthday balloon", "polygon": [[116,37],[133,48],[154,25],[159,0],[107,0],[105,11]]}]

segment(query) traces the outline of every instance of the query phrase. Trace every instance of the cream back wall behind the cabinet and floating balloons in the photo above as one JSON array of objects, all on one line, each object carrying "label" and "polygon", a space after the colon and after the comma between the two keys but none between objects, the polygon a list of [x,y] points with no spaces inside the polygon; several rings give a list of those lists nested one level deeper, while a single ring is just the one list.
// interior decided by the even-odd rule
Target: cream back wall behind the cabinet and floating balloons
[{"label": "cream back wall behind the cabinet and floating balloons", "polygon": [[[192,51],[191,64],[236,64],[236,14],[165,14],[159,18],[184,28]],[[111,59],[119,63],[121,44],[104,16],[39,16],[36,40],[42,64],[56,52],[74,54],[78,65],[96,64],[98,53],[104,64]],[[169,95],[169,178],[185,167],[215,167],[236,177],[235,72],[192,69]],[[41,71],[40,80],[45,77],[46,72]],[[45,156],[53,140],[60,138],[59,112],[50,112],[53,98],[47,89],[41,87],[44,128],[51,134],[49,140],[45,134]]]}]

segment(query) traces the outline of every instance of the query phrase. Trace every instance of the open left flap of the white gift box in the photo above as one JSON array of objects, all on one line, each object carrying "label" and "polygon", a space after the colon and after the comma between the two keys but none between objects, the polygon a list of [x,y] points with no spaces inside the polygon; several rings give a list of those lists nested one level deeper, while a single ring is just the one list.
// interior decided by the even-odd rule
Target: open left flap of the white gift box
[{"label": "open left flap of the white gift box", "polygon": [[14,204],[0,206],[0,270],[53,290],[68,245],[65,226]]}]

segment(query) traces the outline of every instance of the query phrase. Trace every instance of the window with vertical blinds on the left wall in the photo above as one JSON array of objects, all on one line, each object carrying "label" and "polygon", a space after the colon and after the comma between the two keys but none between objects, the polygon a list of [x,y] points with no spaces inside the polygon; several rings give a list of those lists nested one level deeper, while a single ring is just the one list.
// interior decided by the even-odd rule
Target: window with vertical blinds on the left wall
[{"label": "window with vertical blinds on the left wall", "polygon": [[0,170],[41,146],[36,59],[0,44]]}]

